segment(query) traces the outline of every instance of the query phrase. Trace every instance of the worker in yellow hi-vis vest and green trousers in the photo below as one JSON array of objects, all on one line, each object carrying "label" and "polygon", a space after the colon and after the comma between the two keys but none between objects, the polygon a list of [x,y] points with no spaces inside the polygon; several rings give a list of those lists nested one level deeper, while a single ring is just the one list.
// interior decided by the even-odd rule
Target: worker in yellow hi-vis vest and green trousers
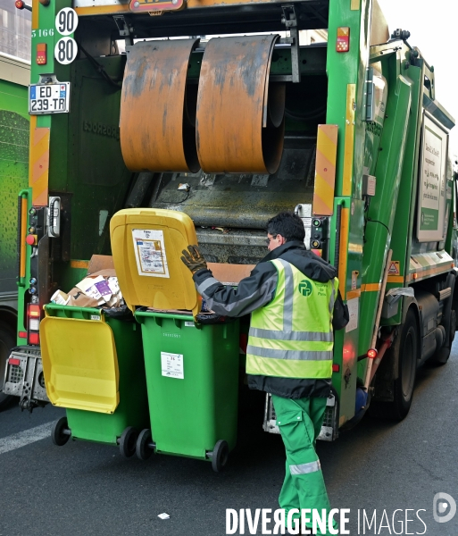
[{"label": "worker in yellow hi-vis vest and green trousers", "polygon": [[270,253],[237,288],[212,276],[198,247],[189,246],[181,257],[208,309],[225,316],[252,315],[248,386],[272,396],[287,455],[279,494],[286,520],[293,508],[317,508],[320,515],[324,508],[329,513],[315,441],[330,394],[333,328],[348,322],[336,269],[307,250],[304,237],[304,223],[296,214],[271,218],[266,239]]}]

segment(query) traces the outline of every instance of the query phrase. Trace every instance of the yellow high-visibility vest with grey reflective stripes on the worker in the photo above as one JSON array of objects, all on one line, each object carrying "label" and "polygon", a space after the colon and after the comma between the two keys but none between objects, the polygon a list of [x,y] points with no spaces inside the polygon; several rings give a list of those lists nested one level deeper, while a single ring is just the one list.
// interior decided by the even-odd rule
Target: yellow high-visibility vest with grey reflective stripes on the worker
[{"label": "yellow high-visibility vest with grey reflective stripes on the worker", "polygon": [[338,280],[313,281],[283,259],[275,297],[251,316],[246,373],[280,378],[332,376],[332,314]]}]

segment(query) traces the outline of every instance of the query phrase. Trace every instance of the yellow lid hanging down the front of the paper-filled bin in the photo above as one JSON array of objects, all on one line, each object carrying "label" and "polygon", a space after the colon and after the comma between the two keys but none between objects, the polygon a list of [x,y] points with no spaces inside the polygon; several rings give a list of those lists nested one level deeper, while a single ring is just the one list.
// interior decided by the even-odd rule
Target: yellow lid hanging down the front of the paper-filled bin
[{"label": "yellow lid hanging down the front of the paper-filled bin", "polygon": [[120,402],[112,329],[95,320],[49,316],[40,322],[46,393],[54,406],[112,414]]}]

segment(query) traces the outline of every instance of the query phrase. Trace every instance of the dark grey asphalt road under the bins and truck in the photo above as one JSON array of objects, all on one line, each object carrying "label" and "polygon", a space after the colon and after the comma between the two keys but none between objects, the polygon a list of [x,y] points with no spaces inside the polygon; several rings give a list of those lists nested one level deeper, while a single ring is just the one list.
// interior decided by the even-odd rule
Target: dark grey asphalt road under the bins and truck
[{"label": "dark grey asphalt road under the bins and truck", "polygon": [[[403,423],[365,417],[337,442],[319,443],[331,505],[350,510],[350,534],[458,534],[458,514],[447,523],[433,516],[437,493],[458,503],[457,341],[448,364],[419,371]],[[259,394],[246,401],[224,473],[173,456],[126,460],[84,441],[54,447],[48,423],[61,409],[29,415],[8,406],[0,412],[0,536],[220,536],[227,508],[278,508],[285,456],[279,436],[261,429]],[[442,519],[453,508],[447,500],[437,501]]]}]

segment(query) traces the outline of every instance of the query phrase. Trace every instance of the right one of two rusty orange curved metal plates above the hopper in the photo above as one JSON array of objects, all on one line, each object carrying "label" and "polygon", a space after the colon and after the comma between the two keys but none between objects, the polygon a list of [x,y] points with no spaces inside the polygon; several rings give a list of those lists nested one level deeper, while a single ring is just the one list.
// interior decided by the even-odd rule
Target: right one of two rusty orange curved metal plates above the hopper
[{"label": "right one of two rusty orange curved metal plates above the hopper", "polygon": [[212,38],[205,47],[196,113],[204,172],[274,173],[285,132],[285,85],[269,83],[278,35]]}]

